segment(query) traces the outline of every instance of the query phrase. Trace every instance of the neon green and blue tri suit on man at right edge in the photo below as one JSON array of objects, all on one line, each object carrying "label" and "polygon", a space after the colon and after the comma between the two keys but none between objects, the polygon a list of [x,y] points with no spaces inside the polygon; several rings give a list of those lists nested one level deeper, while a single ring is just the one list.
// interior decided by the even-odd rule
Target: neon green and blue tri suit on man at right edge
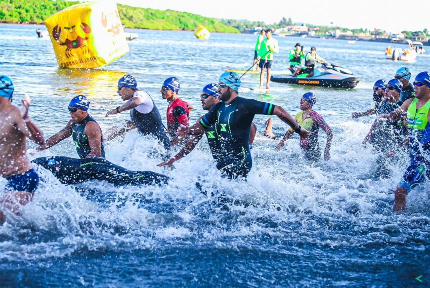
[{"label": "neon green and blue tri suit on man at right edge", "polygon": [[424,173],[430,178],[430,100],[419,109],[416,108],[417,101],[414,99],[411,102],[407,112],[411,163],[399,183],[408,192],[423,179]]}]

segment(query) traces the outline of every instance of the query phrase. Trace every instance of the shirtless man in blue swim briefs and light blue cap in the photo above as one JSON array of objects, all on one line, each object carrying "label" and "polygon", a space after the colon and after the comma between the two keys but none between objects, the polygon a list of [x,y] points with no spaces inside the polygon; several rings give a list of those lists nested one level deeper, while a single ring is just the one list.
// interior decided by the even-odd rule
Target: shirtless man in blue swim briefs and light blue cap
[{"label": "shirtless man in blue swim briefs and light blue cap", "polygon": [[39,145],[45,143],[44,134],[28,116],[29,98],[22,101],[22,111],[12,104],[14,89],[12,80],[0,75],[0,173],[7,181],[0,195],[0,225],[6,221],[6,211],[19,215],[20,205],[32,200],[39,183],[27,157],[26,138]]}]

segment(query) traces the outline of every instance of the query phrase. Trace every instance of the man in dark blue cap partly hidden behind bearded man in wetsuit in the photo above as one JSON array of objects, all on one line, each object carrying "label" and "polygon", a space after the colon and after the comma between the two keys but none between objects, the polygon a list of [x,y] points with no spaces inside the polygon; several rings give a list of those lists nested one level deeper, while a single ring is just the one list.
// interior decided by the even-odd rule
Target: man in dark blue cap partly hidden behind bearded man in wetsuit
[{"label": "man in dark blue cap partly hidden behind bearded man in wetsuit", "polygon": [[[219,86],[217,83],[211,83],[203,87],[203,90],[200,94],[200,102],[203,110],[210,111],[210,109],[212,109],[214,105],[218,104],[221,101],[218,87]],[[199,121],[200,118],[197,121]],[[169,159],[168,161],[159,163],[157,164],[157,166],[161,167],[167,165],[167,167],[170,167],[175,161],[178,161],[179,159],[191,153],[191,151],[194,150],[197,143],[203,137],[203,134],[206,135],[207,143],[209,144],[209,149],[212,153],[213,159],[219,161],[222,157],[222,153],[220,151],[220,138],[217,127],[217,123],[212,124],[206,129],[206,131],[204,131],[204,133],[202,132],[198,135],[191,136],[188,142],[184,145],[181,151],[179,151],[175,155],[175,157]],[[248,142],[250,147],[252,147],[252,142],[254,141],[256,130],[257,128],[255,124],[252,123]]]}]

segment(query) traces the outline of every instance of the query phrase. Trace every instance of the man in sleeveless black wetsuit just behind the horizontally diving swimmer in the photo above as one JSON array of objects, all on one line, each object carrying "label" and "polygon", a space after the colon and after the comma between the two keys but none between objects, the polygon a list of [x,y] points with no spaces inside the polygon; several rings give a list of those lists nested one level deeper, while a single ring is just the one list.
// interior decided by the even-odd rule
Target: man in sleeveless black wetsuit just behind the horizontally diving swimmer
[{"label": "man in sleeveless black wetsuit just behind the horizontally diving swimmer", "polygon": [[69,103],[71,120],[66,127],[51,136],[45,145],[40,145],[37,150],[45,150],[56,145],[64,139],[72,136],[76,146],[76,152],[80,158],[105,157],[103,135],[96,120],[88,114],[90,101],[83,95],[75,96]]}]

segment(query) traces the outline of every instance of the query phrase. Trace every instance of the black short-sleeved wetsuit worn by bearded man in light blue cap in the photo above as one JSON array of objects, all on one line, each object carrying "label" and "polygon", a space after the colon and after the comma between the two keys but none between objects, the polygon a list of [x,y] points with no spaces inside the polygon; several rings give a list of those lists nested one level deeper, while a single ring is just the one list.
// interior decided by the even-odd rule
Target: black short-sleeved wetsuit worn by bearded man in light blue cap
[{"label": "black short-sleeved wetsuit worn by bearded man in light blue cap", "polygon": [[237,97],[230,103],[217,103],[200,120],[208,129],[217,123],[220,158],[217,168],[229,178],[246,177],[252,167],[249,133],[255,114],[273,115],[275,105]]}]

